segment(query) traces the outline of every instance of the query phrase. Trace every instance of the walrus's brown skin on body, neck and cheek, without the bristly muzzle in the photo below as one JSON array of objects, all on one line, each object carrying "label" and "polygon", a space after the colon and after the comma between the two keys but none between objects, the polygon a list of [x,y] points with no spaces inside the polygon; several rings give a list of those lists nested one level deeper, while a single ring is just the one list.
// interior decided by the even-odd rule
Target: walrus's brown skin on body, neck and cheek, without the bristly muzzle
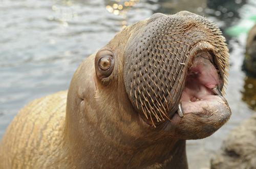
[{"label": "walrus's brown skin on body, neck and cheek, without the bristly muzzle", "polygon": [[[187,168],[185,139],[209,136],[225,122],[187,115],[187,124],[184,117],[174,126],[166,120],[153,127],[134,108],[124,85],[126,42],[148,22],[165,16],[126,27],[84,60],[68,95],[52,94],[20,110],[3,136],[0,168]],[[105,52],[113,53],[114,60],[108,77],[95,64]]]}]

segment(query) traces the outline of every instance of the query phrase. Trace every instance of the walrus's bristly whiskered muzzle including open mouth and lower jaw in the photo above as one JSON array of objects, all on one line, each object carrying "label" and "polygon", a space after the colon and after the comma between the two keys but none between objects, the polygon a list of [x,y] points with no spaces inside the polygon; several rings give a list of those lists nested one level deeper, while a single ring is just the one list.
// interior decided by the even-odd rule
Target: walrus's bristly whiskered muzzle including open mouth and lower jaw
[{"label": "walrus's bristly whiskered muzzle including open mouth and lower jaw", "polygon": [[155,14],[133,33],[124,55],[126,92],[147,124],[193,139],[229,119],[226,100],[216,95],[228,75],[228,49],[214,23],[189,12]]}]

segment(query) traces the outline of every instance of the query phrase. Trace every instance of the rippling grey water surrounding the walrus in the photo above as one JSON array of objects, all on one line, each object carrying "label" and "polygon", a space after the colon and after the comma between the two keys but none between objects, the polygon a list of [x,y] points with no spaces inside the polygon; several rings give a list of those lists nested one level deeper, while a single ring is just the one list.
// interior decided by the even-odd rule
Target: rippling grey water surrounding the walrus
[{"label": "rippling grey water surrounding the walrus", "polygon": [[[115,4],[122,5],[122,9]],[[126,5],[120,0],[0,2],[0,138],[24,105],[67,90],[79,64],[108,43],[123,26],[156,12],[174,14],[188,10],[216,22],[230,48],[226,99],[232,117],[212,136],[187,142],[189,167],[209,168],[209,160],[225,135],[254,112],[246,104],[253,103],[246,91],[255,87],[241,66],[246,32],[254,24],[251,18],[256,16],[255,2],[131,0]],[[255,96],[253,92],[249,93]]]}]

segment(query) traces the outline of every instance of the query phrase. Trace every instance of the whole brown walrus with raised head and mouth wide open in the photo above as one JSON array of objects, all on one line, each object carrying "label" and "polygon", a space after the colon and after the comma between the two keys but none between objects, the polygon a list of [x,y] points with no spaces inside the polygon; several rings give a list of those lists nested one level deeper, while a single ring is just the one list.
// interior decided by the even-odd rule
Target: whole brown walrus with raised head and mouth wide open
[{"label": "whole brown walrus with raised head and mouth wide open", "polygon": [[125,27],[78,67],[68,91],[18,112],[1,168],[188,168],[185,140],[231,115],[219,28],[182,11]]}]

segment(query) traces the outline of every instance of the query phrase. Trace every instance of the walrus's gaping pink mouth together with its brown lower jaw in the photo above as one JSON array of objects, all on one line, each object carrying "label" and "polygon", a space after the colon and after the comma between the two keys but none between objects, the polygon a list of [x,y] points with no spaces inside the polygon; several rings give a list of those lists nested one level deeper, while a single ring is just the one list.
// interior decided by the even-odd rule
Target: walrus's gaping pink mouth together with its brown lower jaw
[{"label": "walrus's gaping pink mouth together with its brown lower jaw", "polygon": [[184,139],[204,138],[230,118],[231,110],[221,90],[224,82],[220,66],[207,50],[200,51],[187,70],[178,110],[165,130]]}]

